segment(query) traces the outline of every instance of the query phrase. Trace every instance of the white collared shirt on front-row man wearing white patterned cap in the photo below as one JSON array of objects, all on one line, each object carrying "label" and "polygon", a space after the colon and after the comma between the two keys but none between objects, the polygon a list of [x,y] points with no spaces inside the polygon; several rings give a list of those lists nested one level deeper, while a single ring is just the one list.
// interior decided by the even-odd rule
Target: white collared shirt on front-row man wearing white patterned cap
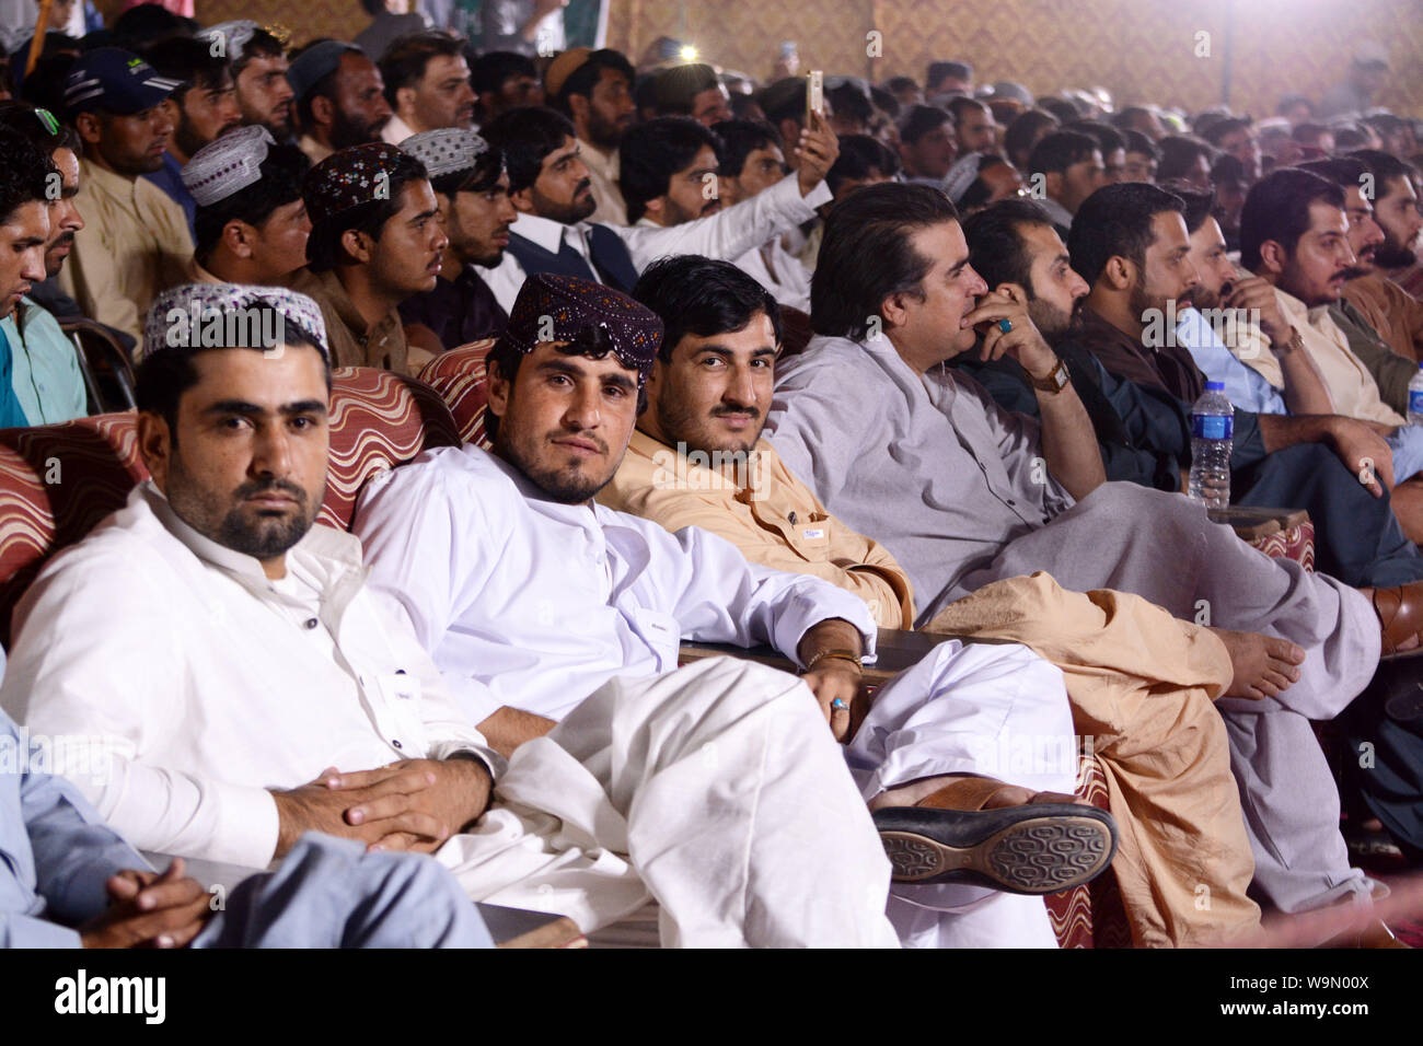
[{"label": "white collared shirt on front-row man wearing white patterned cap", "polygon": [[457,751],[502,770],[370,598],[356,538],[312,527],[286,565],[270,582],[145,482],[20,601],[0,704],[31,734],[84,739],[90,770],[108,753],[65,776],[135,847],[260,868],[268,788]]}]

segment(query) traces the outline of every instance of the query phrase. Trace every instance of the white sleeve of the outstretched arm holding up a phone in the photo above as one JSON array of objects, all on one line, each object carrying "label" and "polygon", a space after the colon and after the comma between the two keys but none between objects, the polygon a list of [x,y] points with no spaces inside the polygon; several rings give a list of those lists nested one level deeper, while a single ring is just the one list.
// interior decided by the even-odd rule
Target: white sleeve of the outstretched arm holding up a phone
[{"label": "white sleeve of the outstretched arm holding up a phone", "polygon": [[801,196],[800,182],[794,174],[788,174],[764,192],[710,218],[697,218],[667,228],[646,225],[606,228],[622,236],[638,272],[659,258],[672,255],[704,255],[731,262],[773,236],[815,218],[815,208],[830,201],[831,192],[825,182],[811,189],[810,195]]}]

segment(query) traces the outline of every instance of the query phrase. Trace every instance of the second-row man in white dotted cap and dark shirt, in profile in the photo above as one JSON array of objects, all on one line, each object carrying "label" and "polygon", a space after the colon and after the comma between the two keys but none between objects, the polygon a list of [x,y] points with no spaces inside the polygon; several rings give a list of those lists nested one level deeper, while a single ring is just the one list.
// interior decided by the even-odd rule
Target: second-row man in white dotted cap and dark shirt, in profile
[{"label": "second-row man in white dotted cap and dark shirt, in profile", "polygon": [[407,337],[428,332],[427,347],[441,352],[502,334],[508,313],[484,282],[504,258],[518,216],[502,154],[458,128],[413,135],[400,148],[425,165],[450,238],[435,286],[400,303]]}]

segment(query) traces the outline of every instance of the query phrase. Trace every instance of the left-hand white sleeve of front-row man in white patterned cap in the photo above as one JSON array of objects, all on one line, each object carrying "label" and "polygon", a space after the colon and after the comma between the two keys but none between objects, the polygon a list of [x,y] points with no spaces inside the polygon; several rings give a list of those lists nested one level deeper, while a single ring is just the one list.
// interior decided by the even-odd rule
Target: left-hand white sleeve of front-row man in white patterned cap
[{"label": "left-hand white sleeve of front-row man in white patterned cap", "polygon": [[277,841],[270,793],[141,761],[185,729],[178,696],[201,672],[168,611],[139,558],[63,556],[16,611],[0,704],[63,746],[74,760],[65,777],[134,847],[266,867]]}]

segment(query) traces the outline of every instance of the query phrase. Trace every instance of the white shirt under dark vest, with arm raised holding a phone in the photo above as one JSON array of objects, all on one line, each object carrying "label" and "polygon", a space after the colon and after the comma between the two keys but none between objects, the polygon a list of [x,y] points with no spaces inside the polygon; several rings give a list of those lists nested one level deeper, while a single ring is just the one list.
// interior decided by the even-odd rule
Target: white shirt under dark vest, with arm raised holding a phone
[{"label": "white shirt under dark vest, with arm raised holding a phone", "polygon": [[[703,255],[731,262],[747,250],[766,243],[773,236],[794,229],[801,222],[808,222],[815,216],[815,208],[831,201],[830,186],[821,182],[808,195],[800,195],[800,182],[794,174],[785,175],[771,188],[758,192],[750,199],[743,199],[736,206],[719,211],[707,218],[697,218],[682,225],[605,225],[605,229],[616,232],[628,246],[633,268],[642,272],[659,258],[675,255]],[[564,225],[538,215],[521,213],[511,226],[511,232],[538,243],[551,253],[558,253],[559,243],[569,231],[578,233],[568,242],[583,258],[588,258],[586,241],[588,222]],[[514,299],[524,286],[524,266],[508,250],[504,260],[494,269],[487,270],[484,282],[498,299],[505,312],[514,309]],[[589,272],[593,272],[589,262]],[[596,273],[591,276],[596,279]]]}]

